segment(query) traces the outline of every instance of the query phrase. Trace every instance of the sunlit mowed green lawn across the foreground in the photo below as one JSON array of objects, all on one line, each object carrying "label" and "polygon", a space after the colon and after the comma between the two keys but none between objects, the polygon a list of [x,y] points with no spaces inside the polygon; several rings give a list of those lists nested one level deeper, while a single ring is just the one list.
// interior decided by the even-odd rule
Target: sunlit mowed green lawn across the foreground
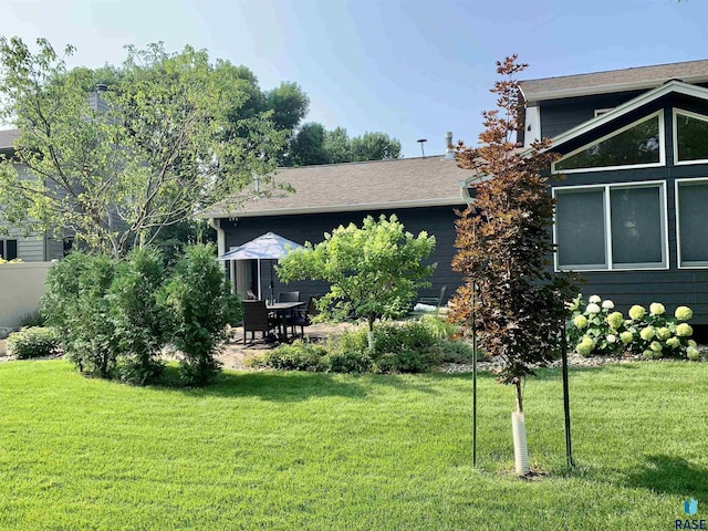
[{"label": "sunlit mowed green lawn across the foreground", "polygon": [[[531,464],[513,476],[513,393],[471,375],[225,373],[138,388],[63,361],[0,364],[0,529],[674,529],[708,503],[708,364],[571,372],[527,385]],[[702,516],[701,516],[702,514]]]}]

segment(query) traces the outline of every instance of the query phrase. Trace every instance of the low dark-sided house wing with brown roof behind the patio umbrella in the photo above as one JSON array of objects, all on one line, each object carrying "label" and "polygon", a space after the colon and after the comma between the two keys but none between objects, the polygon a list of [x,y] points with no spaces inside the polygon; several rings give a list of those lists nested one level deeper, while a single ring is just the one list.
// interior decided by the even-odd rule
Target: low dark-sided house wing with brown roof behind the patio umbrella
[{"label": "low dark-sided house wing with brown roof behind the patio umbrella", "polygon": [[[299,168],[282,168],[275,174],[280,183],[289,183],[294,194],[275,192],[272,197],[254,198],[231,211],[214,207],[204,217],[217,227],[219,254],[268,231],[299,243],[317,243],[324,232],[340,225],[362,225],[366,216],[395,214],[407,231],[417,235],[427,231],[437,243],[430,262],[438,267],[431,287],[421,295],[437,295],[446,285],[446,299],[461,283],[452,272],[455,256],[455,209],[465,208],[460,183],[470,175],[459,169],[449,150],[444,156],[347,163]],[[256,262],[229,262],[230,278],[243,294],[248,289],[257,292]],[[262,264],[262,285],[267,293],[270,266]],[[273,275],[273,292],[299,290],[304,298],[324,293],[327,285],[316,282],[291,282],[282,287]]]}]

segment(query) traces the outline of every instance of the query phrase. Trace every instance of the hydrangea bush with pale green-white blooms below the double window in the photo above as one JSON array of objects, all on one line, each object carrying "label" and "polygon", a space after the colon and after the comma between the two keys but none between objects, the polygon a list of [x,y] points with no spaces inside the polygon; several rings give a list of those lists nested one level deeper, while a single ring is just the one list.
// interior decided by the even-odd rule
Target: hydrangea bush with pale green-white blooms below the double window
[{"label": "hydrangea bush with pale green-white blooms below the double window", "polygon": [[635,304],[625,319],[611,300],[592,295],[585,304],[577,295],[568,308],[569,345],[583,356],[631,352],[649,360],[699,358],[697,344],[690,339],[694,331],[687,323],[694,316],[688,306],[678,306],[671,316],[659,302],[653,302],[648,312]]}]

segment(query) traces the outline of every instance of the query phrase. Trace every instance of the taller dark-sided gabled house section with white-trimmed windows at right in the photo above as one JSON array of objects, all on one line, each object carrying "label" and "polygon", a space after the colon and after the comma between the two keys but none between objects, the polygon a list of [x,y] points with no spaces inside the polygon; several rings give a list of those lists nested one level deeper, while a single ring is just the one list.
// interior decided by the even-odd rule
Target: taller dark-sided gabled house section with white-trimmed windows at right
[{"label": "taller dark-sided gabled house section with white-trimmed windows at right", "polygon": [[521,83],[519,140],[550,137],[555,270],[625,310],[708,324],[708,60]]}]

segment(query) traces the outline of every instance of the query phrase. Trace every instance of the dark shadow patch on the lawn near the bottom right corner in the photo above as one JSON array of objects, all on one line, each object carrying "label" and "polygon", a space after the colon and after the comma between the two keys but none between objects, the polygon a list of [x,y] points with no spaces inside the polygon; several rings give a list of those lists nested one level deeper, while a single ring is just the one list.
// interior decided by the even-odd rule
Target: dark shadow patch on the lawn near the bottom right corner
[{"label": "dark shadow patch on the lawn near the bottom right corner", "polygon": [[676,456],[657,454],[646,456],[645,459],[644,468],[627,476],[628,487],[684,498],[708,498],[708,469]]}]

